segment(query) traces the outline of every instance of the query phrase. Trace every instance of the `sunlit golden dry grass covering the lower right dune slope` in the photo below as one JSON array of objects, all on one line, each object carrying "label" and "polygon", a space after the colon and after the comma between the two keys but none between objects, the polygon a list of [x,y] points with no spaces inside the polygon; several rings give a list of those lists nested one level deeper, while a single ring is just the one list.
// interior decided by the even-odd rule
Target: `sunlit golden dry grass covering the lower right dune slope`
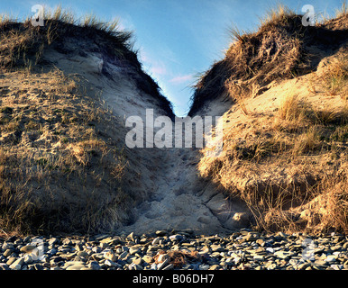
[{"label": "sunlit golden dry grass covering the lower right dune slope", "polygon": [[[269,94],[274,95],[272,89]],[[321,93],[319,97],[327,96]],[[347,178],[342,175],[347,161],[346,100],[336,96],[333,101],[337,105],[331,107],[326,101],[325,107],[319,108],[293,92],[278,98],[276,109],[243,114],[234,118],[236,122],[231,126],[226,125],[223,155],[202,157],[198,164],[200,174],[240,196],[260,229],[309,230],[319,222],[320,229],[347,229],[342,224],[346,222],[344,207],[348,203]],[[242,112],[236,110],[230,116],[234,113]],[[226,121],[233,122],[230,116]],[[331,206],[336,203],[332,210],[339,221],[329,220],[331,212],[315,212],[322,209],[319,205],[313,206],[316,208],[306,220],[299,217],[301,210],[307,209],[306,204],[318,195]],[[328,201],[331,196],[332,201]]]}]

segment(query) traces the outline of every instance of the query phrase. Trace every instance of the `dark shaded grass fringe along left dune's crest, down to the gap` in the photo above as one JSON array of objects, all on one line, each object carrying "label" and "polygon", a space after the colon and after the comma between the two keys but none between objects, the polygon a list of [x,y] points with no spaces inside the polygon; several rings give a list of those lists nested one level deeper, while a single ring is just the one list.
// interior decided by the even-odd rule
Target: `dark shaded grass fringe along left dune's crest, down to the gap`
[{"label": "dark shaded grass fringe along left dune's crest, down to the gap", "polygon": [[[56,49],[65,55],[76,53],[78,50],[83,56],[97,43],[96,49],[103,53],[105,61],[116,62],[121,67],[132,67],[130,70],[136,73],[130,73],[137,87],[144,93],[153,95],[161,108],[170,117],[174,117],[172,105],[160,93],[159,85],[142,70],[137,52],[133,50],[133,33],[122,31],[117,20],[105,22],[93,14],[77,20],[74,14],[62,10],[60,6],[53,12],[45,12],[44,18],[43,27],[34,27],[29,18],[20,23],[3,15],[0,19],[1,70],[23,67],[28,73],[39,73],[48,64],[42,58],[46,49]],[[78,49],[67,48],[63,43],[68,41],[79,42]],[[104,67],[102,73],[108,75]]]}]

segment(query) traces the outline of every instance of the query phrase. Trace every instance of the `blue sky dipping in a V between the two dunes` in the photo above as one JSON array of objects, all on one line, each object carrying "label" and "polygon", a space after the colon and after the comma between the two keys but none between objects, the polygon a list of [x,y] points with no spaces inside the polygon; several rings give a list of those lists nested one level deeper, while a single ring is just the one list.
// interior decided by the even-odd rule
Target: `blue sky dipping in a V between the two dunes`
[{"label": "blue sky dipping in a V between the two dunes", "polygon": [[[118,18],[121,28],[134,31],[135,49],[148,72],[173,103],[174,112],[188,112],[191,88],[197,76],[224,58],[232,25],[255,31],[259,17],[279,2],[272,0],[0,0],[0,14],[22,18],[34,4],[54,8],[58,4],[78,17],[96,14],[105,21]],[[333,15],[342,0],[281,1],[301,14],[312,4],[316,14]]]}]

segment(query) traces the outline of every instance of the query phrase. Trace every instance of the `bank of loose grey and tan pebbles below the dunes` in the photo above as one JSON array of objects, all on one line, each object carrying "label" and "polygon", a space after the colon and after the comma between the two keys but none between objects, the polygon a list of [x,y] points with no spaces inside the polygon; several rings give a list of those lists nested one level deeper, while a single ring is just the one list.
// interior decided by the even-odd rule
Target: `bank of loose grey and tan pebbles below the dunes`
[{"label": "bank of loose grey and tan pebbles below the dunes", "polygon": [[348,237],[189,231],[0,238],[0,270],[347,270]]}]

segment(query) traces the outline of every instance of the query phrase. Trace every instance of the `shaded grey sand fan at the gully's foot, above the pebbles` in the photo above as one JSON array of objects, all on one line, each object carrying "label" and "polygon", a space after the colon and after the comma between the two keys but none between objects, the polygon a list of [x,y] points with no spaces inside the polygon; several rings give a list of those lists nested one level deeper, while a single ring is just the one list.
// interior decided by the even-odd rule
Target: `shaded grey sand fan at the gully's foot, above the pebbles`
[{"label": "shaded grey sand fan at the gully's foot, above the pebbles", "polygon": [[241,225],[240,220],[231,218],[243,208],[198,178],[197,152],[172,148],[162,151],[159,159],[158,186],[151,193],[151,199],[138,207],[139,217],[135,223],[120,230],[190,229],[217,233]]}]

